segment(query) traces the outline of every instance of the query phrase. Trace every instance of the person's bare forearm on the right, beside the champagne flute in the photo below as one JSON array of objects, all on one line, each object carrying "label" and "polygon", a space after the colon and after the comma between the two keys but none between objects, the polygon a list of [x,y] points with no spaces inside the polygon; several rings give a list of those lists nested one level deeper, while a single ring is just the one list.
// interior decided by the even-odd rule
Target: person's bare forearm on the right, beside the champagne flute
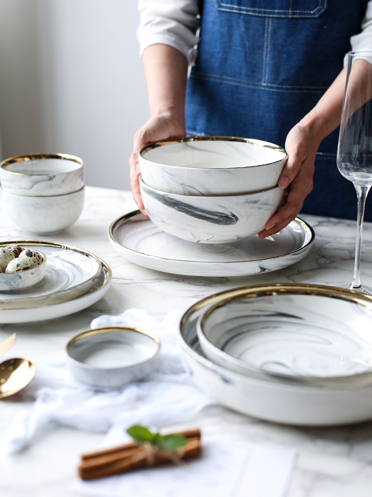
[{"label": "person's bare forearm on the right, beside the champagne flute", "polygon": [[319,144],[340,124],[346,74],[345,67],[315,107],[299,122]]}]

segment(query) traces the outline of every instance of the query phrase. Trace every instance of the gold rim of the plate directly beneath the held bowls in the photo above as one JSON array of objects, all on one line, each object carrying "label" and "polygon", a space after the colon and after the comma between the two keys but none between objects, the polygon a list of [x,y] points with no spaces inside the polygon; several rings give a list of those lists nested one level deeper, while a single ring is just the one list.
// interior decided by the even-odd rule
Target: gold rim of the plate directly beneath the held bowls
[{"label": "gold rim of the plate directly beneath the held bowls", "polygon": [[[286,255],[291,255],[292,253],[299,252],[300,250],[303,250],[304,248],[309,247],[313,243],[313,241],[315,240],[315,232],[311,228],[311,226],[306,221],[303,221],[302,219],[296,217],[294,219],[294,221],[299,223],[300,226],[303,228],[303,230],[305,232],[305,240],[304,240],[304,244],[302,245],[302,247],[297,248],[296,250],[293,250],[292,252],[282,253],[280,255],[275,255],[274,257],[266,257],[266,259],[249,259],[249,260],[232,260],[232,261],[222,261],[222,260],[221,261],[218,261],[218,260],[217,261],[209,261],[209,260],[195,261],[195,260],[187,260],[187,259],[171,259],[169,257],[160,257],[159,255],[149,255],[147,253],[138,252],[138,250],[133,250],[132,248],[125,247],[124,245],[119,243],[118,240],[116,240],[113,232],[117,228],[117,226],[120,223],[124,223],[127,219],[130,219],[131,217],[136,216],[138,214],[141,214],[141,211],[139,209],[136,211],[129,212],[128,214],[124,214],[124,216],[121,216],[118,219],[116,219],[115,221],[113,221],[110,225],[110,228],[109,228],[109,237],[116,245],[119,245],[119,247],[123,247],[126,250],[130,250],[131,252],[134,252],[134,253],[139,253],[141,255],[145,255],[146,257],[154,257],[155,259],[176,260],[176,261],[181,261],[181,262],[197,262],[197,263],[203,262],[204,264],[215,264],[216,262],[217,263],[223,262],[224,264],[239,264],[242,262],[256,262],[258,260],[278,259],[280,257],[285,257]],[[307,241],[307,238],[309,238],[309,236],[310,236],[310,239]]]}]

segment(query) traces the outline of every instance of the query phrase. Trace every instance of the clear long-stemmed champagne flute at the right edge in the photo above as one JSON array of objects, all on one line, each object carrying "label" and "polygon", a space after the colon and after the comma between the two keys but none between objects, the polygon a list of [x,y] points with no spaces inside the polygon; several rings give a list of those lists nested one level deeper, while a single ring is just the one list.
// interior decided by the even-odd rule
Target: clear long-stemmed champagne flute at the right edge
[{"label": "clear long-stemmed champagne flute at the right edge", "polygon": [[372,294],[372,289],[363,287],[360,280],[363,217],[372,185],[372,51],[349,55],[337,166],[353,182],[358,197],[354,275],[349,289]]}]

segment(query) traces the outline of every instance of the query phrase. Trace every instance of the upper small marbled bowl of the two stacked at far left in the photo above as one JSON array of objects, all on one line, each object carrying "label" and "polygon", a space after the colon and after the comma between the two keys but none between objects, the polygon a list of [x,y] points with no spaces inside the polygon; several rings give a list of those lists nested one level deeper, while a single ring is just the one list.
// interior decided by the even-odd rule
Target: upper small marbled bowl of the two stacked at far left
[{"label": "upper small marbled bowl of the two stacked at far left", "polygon": [[14,195],[65,195],[84,186],[84,163],[67,154],[31,154],[0,163],[1,188]]}]

